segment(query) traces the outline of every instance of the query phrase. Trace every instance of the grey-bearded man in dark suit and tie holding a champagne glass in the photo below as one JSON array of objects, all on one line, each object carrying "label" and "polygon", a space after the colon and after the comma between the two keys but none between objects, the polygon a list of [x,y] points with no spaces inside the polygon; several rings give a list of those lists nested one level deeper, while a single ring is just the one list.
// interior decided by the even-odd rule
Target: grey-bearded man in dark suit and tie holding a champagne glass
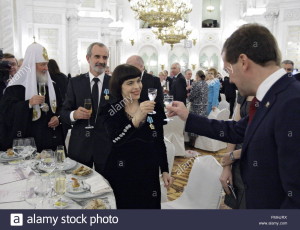
[{"label": "grey-bearded man in dark suit and tie holding a champagne glass", "polygon": [[[109,80],[105,67],[109,56],[108,48],[102,43],[92,43],[87,49],[88,73],[71,78],[61,119],[72,124],[68,156],[89,167],[95,165],[102,172],[110,152],[110,141],[103,127],[101,109],[110,100]],[[92,99],[92,113],[84,108],[85,99]],[[86,129],[90,120],[94,129]]]}]

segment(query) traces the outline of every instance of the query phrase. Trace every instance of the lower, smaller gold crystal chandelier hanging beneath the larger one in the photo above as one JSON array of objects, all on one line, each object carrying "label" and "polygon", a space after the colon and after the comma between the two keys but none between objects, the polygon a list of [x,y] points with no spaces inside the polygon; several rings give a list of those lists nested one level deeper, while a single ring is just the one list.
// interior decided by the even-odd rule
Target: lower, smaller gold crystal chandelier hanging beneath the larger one
[{"label": "lower, smaller gold crystal chandelier hanging beneath the larger one", "polygon": [[160,31],[156,28],[152,29],[152,31],[156,34],[156,37],[162,41],[162,44],[168,43],[171,45],[171,49],[173,49],[174,44],[180,43],[181,40],[188,38],[192,29],[189,23],[180,20],[174,25],[165,27]]}]

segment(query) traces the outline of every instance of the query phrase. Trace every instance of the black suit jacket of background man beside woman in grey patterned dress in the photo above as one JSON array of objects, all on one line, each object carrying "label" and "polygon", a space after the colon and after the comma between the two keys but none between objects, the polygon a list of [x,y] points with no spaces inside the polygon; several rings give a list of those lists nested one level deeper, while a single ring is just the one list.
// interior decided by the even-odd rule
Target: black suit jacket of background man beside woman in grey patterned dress
[{"label": "black suit jacket of background man beside woman in grey patterned dress", "polygon": [[184,104],[186,104],[186,80],[181,73],[179,73],[178,76],[173,79],[170,94],[173,95],[174,101],[182,101]]}]

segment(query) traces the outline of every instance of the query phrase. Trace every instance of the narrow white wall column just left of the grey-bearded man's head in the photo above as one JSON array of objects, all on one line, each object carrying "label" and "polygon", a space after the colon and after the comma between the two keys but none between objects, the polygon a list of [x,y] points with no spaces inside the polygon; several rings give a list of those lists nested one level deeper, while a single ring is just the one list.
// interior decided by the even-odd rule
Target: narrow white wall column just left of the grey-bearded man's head
[{"label": "narrow white wall column just left of the grey-bearded man's head", "polygon": [[68,20],[68,70],[72,77],[80,73],[79,62],[78,62],[78,11],[76,9],[69,9],[67,11]]}]

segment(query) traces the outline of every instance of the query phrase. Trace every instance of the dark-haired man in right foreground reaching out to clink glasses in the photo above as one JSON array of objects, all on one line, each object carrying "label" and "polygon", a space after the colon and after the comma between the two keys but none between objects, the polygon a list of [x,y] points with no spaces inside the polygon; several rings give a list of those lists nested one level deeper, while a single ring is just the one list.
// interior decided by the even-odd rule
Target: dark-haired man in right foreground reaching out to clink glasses
[{"label": "dark-haired man in right foreground reaching out to clink glasses", "polygon": [[[210,120],[189,114],[180,102],[168,108],[170,115],[186,120],[187,132],[243,142],[240,169],[247,208],[299,209],[300,83],[280,69],[276,40],[258,24],[234,32],[223,46],[222,58],[241,95],[254,95],[259,101],[249,117],[239,122]],[[227,190],[227,183],[222,185]]]}]

